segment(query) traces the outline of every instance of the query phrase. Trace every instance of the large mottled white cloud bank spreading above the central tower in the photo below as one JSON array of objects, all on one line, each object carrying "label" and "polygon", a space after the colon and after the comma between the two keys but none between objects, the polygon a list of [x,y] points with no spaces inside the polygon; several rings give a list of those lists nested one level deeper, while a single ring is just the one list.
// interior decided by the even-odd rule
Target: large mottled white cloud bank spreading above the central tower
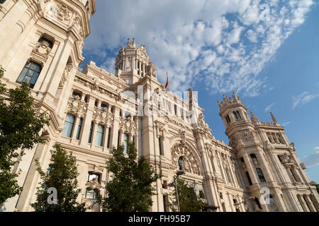
[{"label": "large mottled white cloud bank spreading above the central tower", "polygon": [[146,45],[159,81],[164,83],[169,71],[172,90],[205,81],[211,93],[235,90],[254,96],[267,79],[262,70],[304,22],[313,0],[269,1],[269,20],[260,20],[259,0],[96,4],[84,54],[103,59],[104,67],[110,68],[110,53],[116,55],[128,37],[135,37],[137,44]]}]

